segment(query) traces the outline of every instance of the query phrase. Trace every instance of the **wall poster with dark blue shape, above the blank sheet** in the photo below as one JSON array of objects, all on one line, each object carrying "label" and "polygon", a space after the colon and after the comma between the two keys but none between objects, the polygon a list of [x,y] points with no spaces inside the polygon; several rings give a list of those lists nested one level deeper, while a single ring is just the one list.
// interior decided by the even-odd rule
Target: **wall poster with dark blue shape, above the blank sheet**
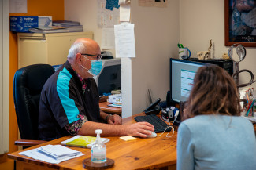
[{"label": "wall poster with dark blue shape, above the blank sheet", "polygon": [[119,24],[118,0],[98,0],[98,27],[113,27]]}]

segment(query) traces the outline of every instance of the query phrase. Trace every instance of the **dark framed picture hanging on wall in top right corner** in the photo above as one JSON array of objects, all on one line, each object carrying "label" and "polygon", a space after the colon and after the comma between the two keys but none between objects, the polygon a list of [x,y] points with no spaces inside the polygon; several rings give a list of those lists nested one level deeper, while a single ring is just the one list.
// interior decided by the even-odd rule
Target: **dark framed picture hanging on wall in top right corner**
[{"label": "dark framed picture hanging on wall in top right corner", "polygon": [[224,0],[225,45],[256,47],[256,0]]}]

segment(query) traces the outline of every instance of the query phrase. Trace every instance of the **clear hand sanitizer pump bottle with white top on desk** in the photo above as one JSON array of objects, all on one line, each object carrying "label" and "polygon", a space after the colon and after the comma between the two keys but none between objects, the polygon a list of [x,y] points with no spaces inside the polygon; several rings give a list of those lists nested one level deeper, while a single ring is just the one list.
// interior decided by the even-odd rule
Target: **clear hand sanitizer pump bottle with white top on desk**
[{"label": "clear hand sanitizer pump bottle with white top on desk", "polygon": [[97,138],[95,144],[91,146],[91,161],[94,163],[106,162],[106,145],[102,143],[100,134],[102,133],[101,129],[95,130]]}]

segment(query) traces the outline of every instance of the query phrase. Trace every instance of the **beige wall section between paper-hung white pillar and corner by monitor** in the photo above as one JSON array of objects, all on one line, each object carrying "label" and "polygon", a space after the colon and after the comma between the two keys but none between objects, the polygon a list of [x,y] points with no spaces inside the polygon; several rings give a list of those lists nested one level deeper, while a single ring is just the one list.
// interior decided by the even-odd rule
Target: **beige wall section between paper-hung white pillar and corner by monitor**
[{"label": "beige wall section between paper-hung white pillar and corner by monitor", "polygon": [[141,7],[132,1],[135,24],[136,58],[132,59],[132,114],[149,106],[147,89],[153,99],[166,99],[169,90],[169,58],[179,42],[179,1],[167,8]]}]

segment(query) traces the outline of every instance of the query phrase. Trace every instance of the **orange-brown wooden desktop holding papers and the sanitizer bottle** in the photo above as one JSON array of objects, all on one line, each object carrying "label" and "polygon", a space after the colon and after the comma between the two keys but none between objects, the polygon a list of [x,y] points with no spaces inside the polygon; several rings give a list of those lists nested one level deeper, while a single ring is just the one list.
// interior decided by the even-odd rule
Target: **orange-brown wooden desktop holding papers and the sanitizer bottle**
[{"label": "orange-brown wooden desktop holding papers and the sanitizer bottle", "polygon": [[[123,125],[130,125],[133,122],[135,121],[131,117],[123,119]],[[108,136],[107,138],[109,138],[110,141],[106,143],[106,157],[109,157],[115,161],[113,168],[109,169],[167,169],[167,166],[169,170],[176,169],[176,132],[172,138],[166,138],[165,135],[166,133],[156,138],[137,138],[136,140],[128,142],[124,142],[124,140],[119,139],[118,136]],[[47,144],[59,144],[61,141],[69,139],[70,137],[71,136],[65,136],[25,150],[35,149],[39,146],[44,146]],[[17,170],[84,169],[82,162],[85,158],[91,157],[91,150],[79,147],[70,148],[73,150],[80,150],[85,155],[76,157],[69,161],[61,162],[57,165],[20,155],[20,151],[24,150],[8,154],[8,157],[17,161]]]}]

